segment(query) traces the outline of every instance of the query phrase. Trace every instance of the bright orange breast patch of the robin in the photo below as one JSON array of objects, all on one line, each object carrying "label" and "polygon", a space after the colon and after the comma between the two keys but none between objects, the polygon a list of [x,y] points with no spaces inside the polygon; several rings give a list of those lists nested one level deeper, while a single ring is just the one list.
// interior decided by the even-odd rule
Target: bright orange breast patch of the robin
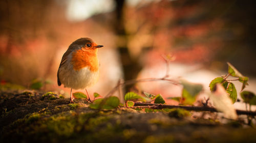
[{"label": "bright orange breast patch of the robin", "polygon": [[77,50],[72,54],[72,64],[74,70],[80,70],[89,67],[92,72],[99,70],[99,61],[97,58],[97,49],[95,50]]}]

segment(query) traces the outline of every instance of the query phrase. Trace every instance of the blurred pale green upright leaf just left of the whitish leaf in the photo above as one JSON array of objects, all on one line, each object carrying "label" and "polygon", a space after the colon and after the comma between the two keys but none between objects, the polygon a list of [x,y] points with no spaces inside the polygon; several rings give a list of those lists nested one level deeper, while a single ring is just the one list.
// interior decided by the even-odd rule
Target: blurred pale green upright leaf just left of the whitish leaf
[{"label": "blurred pale green upright leaf just left of the whitish leaf", "polygon": [[185,80],[181,80],[183,89],[185,89],[191,96],[197,96],[203,89],[202,84],[191,83]]}]

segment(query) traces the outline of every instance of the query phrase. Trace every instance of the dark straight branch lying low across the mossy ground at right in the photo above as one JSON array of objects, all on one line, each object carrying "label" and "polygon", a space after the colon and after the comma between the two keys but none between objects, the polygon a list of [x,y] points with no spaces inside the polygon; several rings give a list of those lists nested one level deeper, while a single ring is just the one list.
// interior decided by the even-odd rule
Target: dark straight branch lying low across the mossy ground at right
[{"label": "dark straight branch lying low across the mossy ground at right", "polygon": [[[208,106],[180,106],[180,105],[163,105],[163,104],[153,104],[153,103],[142,103],[135,102],[135,108],[150,108],[150,109],[163,109],[163,108],[182,108],[186,110],[193,111],[210,111],[210,112],[218,112],[216,108],[208,107]],[[238,115],[249,115],[256,116],[256,112],[254,111],[245,111],[245,110],[236,110]]]}]

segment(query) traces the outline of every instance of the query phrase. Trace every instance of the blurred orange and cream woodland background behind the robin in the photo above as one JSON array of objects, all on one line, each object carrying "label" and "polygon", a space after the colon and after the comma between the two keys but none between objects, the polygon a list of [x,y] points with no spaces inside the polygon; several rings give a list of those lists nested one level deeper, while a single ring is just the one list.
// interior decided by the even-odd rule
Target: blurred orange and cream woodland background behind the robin
[{"label": "blurred orange and cream woodland background behind the robin", "polygon": [[[227,73],[230,62],[256,91],[254,1],[218,0],[8,0],[0,1],[0,80],[69,94],[57,86],[63,53],[78,38],[99,49],[100,79],[89,92],[106,95],[118,82],[163,77],[202,83]],[[238,92],[240,83],[237,83]],[[9,87],[11,88],[11,86]],[[145,82],[127,90],[180,96],[181,87]]]}]

